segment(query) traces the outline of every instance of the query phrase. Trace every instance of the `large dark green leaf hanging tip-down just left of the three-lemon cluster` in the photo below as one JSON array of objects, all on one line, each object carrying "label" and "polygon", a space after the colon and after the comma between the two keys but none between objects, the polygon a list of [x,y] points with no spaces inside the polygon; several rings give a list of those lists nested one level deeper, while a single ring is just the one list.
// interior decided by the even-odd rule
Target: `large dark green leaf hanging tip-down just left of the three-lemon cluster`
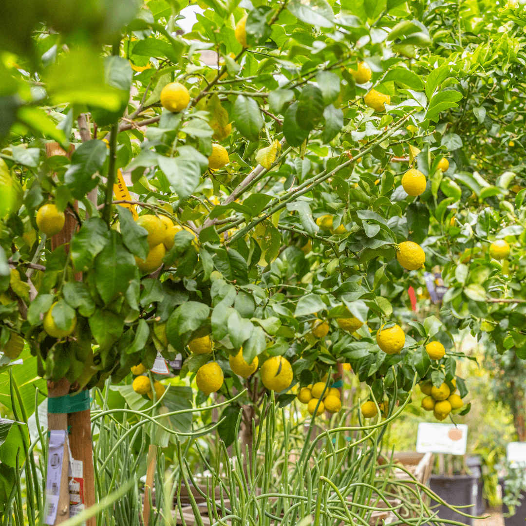
[{"label": "large dark green leaf hanging tip-down just left of the three-lemon cluster", "polygon": [[106,305],[126,293],[136,271],[135,259],[124,247],[122,235],[110,230],[110,240],[95,258],[94,270],[95,286]]}]

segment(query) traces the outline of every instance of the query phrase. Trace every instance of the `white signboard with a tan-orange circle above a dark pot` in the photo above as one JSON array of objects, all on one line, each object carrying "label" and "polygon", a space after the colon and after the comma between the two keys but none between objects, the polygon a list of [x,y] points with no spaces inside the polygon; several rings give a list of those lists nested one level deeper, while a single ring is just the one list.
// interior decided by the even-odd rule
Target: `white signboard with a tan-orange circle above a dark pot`
[{"label": "white signboard with a tan-orange circle above a dark pot", "polygon": [[466,424],[436,424],[420,422],[417,433],[418,453],[466,454],[468,426]]}]

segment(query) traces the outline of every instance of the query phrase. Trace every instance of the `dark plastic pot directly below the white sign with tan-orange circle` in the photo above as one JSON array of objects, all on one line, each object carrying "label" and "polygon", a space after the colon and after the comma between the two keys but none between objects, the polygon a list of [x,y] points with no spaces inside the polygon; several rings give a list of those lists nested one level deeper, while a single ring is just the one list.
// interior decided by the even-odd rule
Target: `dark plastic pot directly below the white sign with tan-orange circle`
[{"label": "dark plastic pot directly below the white sign with tan-orange circle", "polygon": [[[478,477],[471,475],[454,475],[453,477],[431,475],[429,487],[452,506],[469,506],[468,508],[462,508],[463,513],[477,515],[477,482]],[[437,501],[431,500],[431,505],[436,504]],[[473,525],[473,519],[464,517],[444,505],[433,508],[433,511],[438,511],[439,519],[463,522],[464,524],[469,524],[469,526]]]}]

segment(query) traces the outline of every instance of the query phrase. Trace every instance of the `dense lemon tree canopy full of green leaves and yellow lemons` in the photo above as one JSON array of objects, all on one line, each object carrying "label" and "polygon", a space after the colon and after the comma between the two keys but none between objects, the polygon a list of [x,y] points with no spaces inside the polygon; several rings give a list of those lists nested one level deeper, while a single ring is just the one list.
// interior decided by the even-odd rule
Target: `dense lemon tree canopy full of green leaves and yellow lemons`
[{"label": "dense lemon tree canopy full of green leaves and yellow lemons", "polygon": [[338,412],[308,386],[346,365],[373,416],[415,379],[465,398],[461,329],[526,357],[522,8],[457,5],[8,9],[0,366],[15,335],[46,379],[147,398],[180,354],[197,404],[247,388],[257,415],[268,390]]}]

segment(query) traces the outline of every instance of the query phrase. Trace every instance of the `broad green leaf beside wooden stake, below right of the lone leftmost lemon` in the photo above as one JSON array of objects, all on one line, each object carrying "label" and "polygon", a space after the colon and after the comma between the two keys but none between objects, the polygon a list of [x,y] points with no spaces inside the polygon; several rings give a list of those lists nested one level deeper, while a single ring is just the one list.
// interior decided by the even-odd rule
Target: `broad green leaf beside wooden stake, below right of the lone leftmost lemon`
[{"label": "broad green leaf beside wooden stake, below right of the lone leftmost lemon", "polygon": [[78,272],[87,271],[95,256],[103,250],[109,240],[108,227],[102,219],[91,217],[84,221],[70,244],[75,270]]}]

